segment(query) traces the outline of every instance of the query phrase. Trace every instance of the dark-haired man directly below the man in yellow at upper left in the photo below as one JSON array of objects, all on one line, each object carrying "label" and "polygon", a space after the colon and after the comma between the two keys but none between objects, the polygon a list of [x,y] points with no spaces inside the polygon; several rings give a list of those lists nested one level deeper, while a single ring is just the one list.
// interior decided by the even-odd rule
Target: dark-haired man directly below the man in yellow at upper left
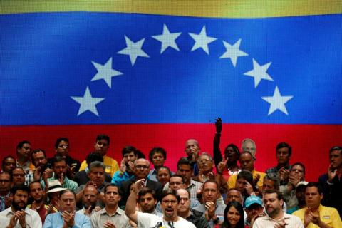
[{"label": "dark-haired man directly below the man in yellow at upper left", "polygon": [[82,196],[84,195],[84,190],[86,186],[94,186],[100,194],[98,195],[97,204],[101,207],[104,206],[104,197],[103,190],[105,189],[105,185],[108,185],[105,182],[105,165],[102,162],[92,162],[90,163],[89,172],[88,172],[89,181],[86,185],[81,185],[77,188],[76,192],[76,203],[81,202]]}]

